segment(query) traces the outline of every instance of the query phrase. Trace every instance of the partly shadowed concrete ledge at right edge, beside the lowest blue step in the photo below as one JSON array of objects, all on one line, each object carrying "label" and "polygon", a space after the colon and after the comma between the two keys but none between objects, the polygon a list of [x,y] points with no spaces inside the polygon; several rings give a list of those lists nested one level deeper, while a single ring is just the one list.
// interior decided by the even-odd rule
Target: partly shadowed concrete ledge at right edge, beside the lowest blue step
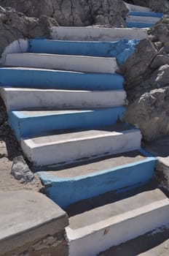
[{"label": "partly shadowed concrete ledge at right edge, beside the lowest blue step", "polygon": [[154,157],[157,157],[157,180],[162,187],[169,189],[169,137],[145,143],[144,146]]}]

